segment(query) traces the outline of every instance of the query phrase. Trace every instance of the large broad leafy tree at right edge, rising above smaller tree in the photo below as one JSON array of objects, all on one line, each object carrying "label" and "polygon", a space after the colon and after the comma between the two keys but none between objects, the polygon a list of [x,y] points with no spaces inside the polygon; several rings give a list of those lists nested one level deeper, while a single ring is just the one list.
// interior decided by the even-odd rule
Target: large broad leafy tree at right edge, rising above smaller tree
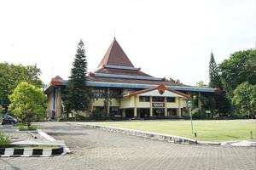
[{"label": "large broad leafy tree at right edge, rising above smaller tree", "polygon": [[232,99],[233,92],[242,82],[256,84],[256,50],[248,49],[238,51],[230,55],[220,65],[221,82],[229,99]]}]

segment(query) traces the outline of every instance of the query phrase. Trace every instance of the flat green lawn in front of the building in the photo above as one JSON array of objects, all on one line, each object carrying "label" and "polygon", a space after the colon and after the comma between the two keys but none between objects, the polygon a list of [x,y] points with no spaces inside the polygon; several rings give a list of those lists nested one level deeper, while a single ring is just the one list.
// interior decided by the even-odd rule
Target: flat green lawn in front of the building
[{"label": "flat green lawn in front of the building", "polygon": [[[93,122],[93,124],[194,138],[190,121]],[[256,135],[255,120],[193,121],[193,124],[197,139],[201,141],[222,142],[250,139],[250,131],[253,131],[253,139]]]}]

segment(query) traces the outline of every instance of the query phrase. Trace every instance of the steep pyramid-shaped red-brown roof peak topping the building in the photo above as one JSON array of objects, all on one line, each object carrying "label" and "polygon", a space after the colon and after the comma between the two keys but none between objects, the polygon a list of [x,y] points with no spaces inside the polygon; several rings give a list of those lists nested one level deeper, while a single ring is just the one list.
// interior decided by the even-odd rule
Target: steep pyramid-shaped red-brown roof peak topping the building
[{"label": "steep pyramid-shaped red-brown roof peak topping the building", "polygon": [[119,42],[116,41],[115,37],[98,67],[102,67],[104,65],[134,67],[124,50],[120,47]]}]

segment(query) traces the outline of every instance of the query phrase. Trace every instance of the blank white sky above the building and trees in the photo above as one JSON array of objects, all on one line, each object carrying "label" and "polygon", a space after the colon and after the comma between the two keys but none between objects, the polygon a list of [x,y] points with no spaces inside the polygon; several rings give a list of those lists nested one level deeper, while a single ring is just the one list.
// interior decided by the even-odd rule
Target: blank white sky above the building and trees
[{"label": "blank white sky above the building and trees", "polygon": [[[82,38],[94,71],[116,39],[154,77],[208,82],[218,63],[255,48],[255,0],[0,1],[0,62],[37,64],[42,79],[67,79]],[[54,69],[52,69],[54,68]]]}]

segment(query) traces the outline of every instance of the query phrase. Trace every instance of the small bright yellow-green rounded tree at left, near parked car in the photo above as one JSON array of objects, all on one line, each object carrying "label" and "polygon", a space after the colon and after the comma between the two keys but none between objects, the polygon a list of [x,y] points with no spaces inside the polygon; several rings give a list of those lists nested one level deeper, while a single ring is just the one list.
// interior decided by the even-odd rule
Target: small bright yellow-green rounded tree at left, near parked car
[{"label": "small bright yellow-green rounded tree at left, near parked car", "polygon": [[27,122],[28,127],[30,122],[44,116],[46,96],[32,84],[20,82],[14,93],[9,95],[9,100],[9,112]]}]

